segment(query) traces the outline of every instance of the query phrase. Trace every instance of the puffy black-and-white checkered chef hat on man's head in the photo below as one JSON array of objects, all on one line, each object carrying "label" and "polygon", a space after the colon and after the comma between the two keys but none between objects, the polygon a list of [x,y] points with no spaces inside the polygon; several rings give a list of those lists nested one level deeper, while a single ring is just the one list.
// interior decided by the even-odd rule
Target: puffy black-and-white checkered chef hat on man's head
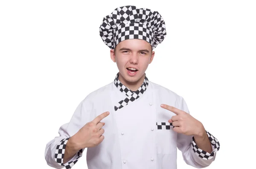
[{"label": "puffy black-and-white checkered chef hat on man's head", "polygon": [[122,6],[103,18],[99,34],[111,49],[127,39],[146,40],[154,49],[166,37],[166,28],[163,17],[157,11]]}]

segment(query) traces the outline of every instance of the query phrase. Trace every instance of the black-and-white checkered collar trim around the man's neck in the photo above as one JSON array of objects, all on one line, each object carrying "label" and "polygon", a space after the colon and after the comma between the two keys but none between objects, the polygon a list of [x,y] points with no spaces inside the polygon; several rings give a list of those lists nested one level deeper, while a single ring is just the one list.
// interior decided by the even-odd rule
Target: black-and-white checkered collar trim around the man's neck
[{"label": "black-and-white checkered collar trim around the man's neck", "polygon": [[116,74],[114,84],[115,84],[116,88],[119,89],[120,92],[124,93],[127,97],[124,100],[119,101],[114,106],[115,111],[123,108],[124,106],[126,106],[129,103],[133,102],[134,100],[138,99],[141,95],[143,95],[143,93],[146,91],[146,89],[148,87],[148,78],[146,77],[146,74],[145,74],[145,78],[144,78],[142,85],[135,92],[133,92],[131,89],[128,89],[128,87],[126,87],[124,84],[122,84],[119,81],[118,77],[119,77],[119,72]]}]

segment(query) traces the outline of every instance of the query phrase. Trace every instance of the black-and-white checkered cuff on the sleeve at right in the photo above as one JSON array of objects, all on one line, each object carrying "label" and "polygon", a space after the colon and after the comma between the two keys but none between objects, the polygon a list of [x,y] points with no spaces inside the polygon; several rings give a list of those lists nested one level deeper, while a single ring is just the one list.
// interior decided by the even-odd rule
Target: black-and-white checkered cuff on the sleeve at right
[{"label": "black-and-white checkered cuff on the sleeve at right", "polygon": [[[207,130],[206,130],[207,132]],[[213,137],[213,135],[211,135],[209,132],[207,132],[207,135],[209,137],[209,140],[211,142],[211,146],[212,146],[212,152],[211,154],[209,152],[206,152],[202,149],[199,149],[198,146],[195,143],[195,138],[192,137],[192,149],[195,152],[196,155],[198,155],[199,157],[203,158],[204,160],[209,160],[212,159],[215,156],[215,153],[218,152],[218,150],[220,149],[220,143],[218,142],[218,140]]]}]

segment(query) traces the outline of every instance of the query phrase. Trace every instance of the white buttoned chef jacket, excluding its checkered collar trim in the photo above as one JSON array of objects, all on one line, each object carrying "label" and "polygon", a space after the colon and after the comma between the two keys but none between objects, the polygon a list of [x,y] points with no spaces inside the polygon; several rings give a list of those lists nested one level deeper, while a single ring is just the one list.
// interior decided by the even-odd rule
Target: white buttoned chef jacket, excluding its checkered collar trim
[{"label": "white buttoned chef jacket, excluding its checkered collar trim", "polygon": [[[56,169],[64,166],[70,169],[75,165],[84,149],[63,164],[68,138],[107,111],[110,115],[102,120],[105,139],[98,146],[87,148],[88,169],[177,169],[177,149],[182,152],[184,161],[196,168],[209,166],[215,160],[219,149],[216,138],[211,140],[212,157],[205,158],[207,155],[204,154],[209,153],[198,149],[192,136],[173,131],[173,126],[168,123],[175,114],[160,105],[167,104],[189,113],[183,97],[149,81],[143,95],[115,111],[116,103],[125,97],[113,82],[87,95],[70,122],[60,127],[59,136],[47,143],[47,164]],[[208,132],[207,135],[209,139],[213,137]]]}]

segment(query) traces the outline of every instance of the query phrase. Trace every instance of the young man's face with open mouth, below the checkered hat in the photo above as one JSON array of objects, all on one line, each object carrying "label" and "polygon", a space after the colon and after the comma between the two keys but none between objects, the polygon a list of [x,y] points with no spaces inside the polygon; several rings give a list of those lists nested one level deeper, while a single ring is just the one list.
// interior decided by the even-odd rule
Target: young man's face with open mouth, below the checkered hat
[{"label": "young man's face with open mouth, below the checkered hat", "polygon": [[[120,75],[128,82],[137,82],[154,58],[151,45],[145,40],[129,39],[111,49],[111,59],[116,62]],[[132,70],[136,69],[136,70]]]}]

